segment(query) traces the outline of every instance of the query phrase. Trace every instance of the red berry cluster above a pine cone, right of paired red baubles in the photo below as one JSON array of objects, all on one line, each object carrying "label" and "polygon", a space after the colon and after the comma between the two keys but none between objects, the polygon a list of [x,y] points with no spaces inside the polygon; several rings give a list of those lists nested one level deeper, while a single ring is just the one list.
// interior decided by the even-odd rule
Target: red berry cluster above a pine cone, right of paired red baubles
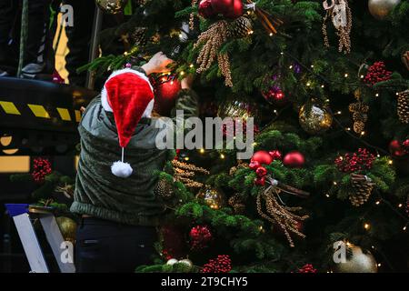
[{"label": "red berry cluster above a pine cone, right of paired red baubles", "polygon": [[341,172],[352,173],[371,169],[374,159],[366,148],[359,148],[356,153],[337,157],[334,163]]}]

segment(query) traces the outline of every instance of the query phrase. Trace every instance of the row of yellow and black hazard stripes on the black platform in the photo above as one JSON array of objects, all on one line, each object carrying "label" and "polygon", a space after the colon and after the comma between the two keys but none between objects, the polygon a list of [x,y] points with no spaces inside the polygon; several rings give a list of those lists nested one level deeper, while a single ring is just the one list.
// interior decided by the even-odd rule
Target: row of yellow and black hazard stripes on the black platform
[{"label": "row of yellow and black hazard stripes on the black platform", "polygon": [[0,98],[0,107],[5,115],[20,115],[26,118],[45,118],[54,121],[61,120],[65,122],[79,123],[81,120],[81,111],[79,109],[65,108],[63,106],[46,106],[38,104],[16,104],[15,102],[5,101]]}]

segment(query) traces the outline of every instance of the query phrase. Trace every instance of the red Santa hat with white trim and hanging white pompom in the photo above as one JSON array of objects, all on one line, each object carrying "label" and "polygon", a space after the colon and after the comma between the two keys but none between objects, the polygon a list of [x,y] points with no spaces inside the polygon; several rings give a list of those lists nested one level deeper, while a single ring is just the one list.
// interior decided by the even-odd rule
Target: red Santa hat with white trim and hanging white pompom
[{"label": "red Santa hat with white trim and hanging white pompom", "polygon": [[135,133],[142,117],[150,117],[154,108],[154,88],[146,75],[131,68],[115,71],[105,81],[101,93],[101,104],[105,111],[114,113],[122,160],[111,166],[115,176],[132,175],[131,165],[124,162],[124,148]]}]

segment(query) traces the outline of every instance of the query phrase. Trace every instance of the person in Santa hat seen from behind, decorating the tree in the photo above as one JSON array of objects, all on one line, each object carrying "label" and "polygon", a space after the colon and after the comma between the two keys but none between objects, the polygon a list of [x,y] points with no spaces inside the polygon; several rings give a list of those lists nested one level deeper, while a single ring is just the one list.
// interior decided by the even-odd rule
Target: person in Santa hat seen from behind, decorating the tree
[{"label": "person in Santa hat seen from behind, decorating the tree", "polygon": [[[115,71],[85,109],[78,127],[81,154],[71,211],[77,230],[77,272],[133,272],[150,262],[165,206],[155,196],[167,150],[155,146],[161,128],[152,117],[155,95],[148,75],[173,61],[157,53],[142,67]],[[182,81],[175,109],[197,115],[192,77]]]}]

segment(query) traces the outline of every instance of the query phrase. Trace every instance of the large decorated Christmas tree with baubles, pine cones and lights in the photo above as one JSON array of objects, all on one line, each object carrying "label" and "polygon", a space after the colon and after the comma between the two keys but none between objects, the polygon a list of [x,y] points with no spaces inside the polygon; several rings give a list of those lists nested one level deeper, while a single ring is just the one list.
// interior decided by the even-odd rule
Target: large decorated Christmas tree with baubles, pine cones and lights
[{"label": "large decorated Christmas tree with baubles, pine cones and lights", "polygon": [[157,173],[169,223],[138,272],[408,270],[407,1],[96,2],[127,16],[81,69],[104,80],[163,51],[158,100],[195,74],[201,117],[254,117],[251,159],[182,149]]}]

